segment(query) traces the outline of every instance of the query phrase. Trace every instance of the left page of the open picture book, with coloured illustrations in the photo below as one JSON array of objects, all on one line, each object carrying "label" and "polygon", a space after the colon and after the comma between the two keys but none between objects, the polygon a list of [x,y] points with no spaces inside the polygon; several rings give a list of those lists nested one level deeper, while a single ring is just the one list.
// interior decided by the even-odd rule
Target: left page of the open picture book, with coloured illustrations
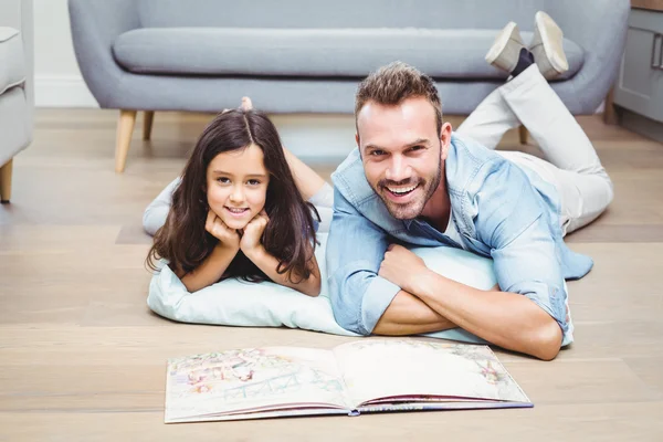
[{"label": "left page of the open picture book, with coloured illustrations", "polygon": [[332,351],[248,348],[168,361],[166,422],[288,406],[347,408]]}]

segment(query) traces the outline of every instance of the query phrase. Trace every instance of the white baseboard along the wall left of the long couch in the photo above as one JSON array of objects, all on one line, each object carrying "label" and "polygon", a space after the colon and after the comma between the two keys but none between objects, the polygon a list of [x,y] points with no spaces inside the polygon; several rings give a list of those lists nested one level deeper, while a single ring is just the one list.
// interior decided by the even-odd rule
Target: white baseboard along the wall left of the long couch
[{"label": "white baseboard along the wall left of the long couch", "polygon": [[99,107],[83,77],[77,75],[35,76],[34,105],[36,107]]}]

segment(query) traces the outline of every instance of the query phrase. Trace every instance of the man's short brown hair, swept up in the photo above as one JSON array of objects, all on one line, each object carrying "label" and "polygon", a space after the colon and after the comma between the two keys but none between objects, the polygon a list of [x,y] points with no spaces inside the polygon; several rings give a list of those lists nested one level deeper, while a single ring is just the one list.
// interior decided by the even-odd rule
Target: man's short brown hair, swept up
[{"label": "man's short brown hair, swept up", "polygon": [[424,97],[435,109],[438,135],[442,131],[442,102],[433,80],[417,67],[403,62],[393,62],[367,76],[355,95],[355,124],[359,110],[368,102],[381,105],[398,105],[410,97]]}]

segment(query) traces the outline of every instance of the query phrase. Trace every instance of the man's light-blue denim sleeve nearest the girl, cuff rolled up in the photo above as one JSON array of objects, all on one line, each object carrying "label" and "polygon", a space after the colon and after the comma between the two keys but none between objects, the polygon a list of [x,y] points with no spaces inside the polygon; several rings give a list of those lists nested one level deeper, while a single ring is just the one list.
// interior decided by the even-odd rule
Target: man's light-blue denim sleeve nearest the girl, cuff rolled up
[{"label": "man's light-blue denim sleeve nearest the girl, cuff rolled up", "polygon": [[332,308],[345,329],[370,335],[400,291],[378,276],[388,245],[388,234],[335,190],[326,257]]}]

